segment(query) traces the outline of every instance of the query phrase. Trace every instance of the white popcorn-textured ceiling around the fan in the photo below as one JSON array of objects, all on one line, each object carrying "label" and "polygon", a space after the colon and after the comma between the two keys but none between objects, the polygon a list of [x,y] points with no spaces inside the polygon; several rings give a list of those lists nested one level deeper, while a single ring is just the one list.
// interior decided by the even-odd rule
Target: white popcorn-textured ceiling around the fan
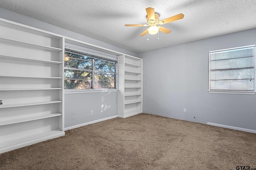
[{"label": "white popcorn-textured ceiling around the fan", "polygon": [[[127,49],[143,52],[208,37],[256,28],[256,0],[0,0],[0,7]],[[139,35],[146,27],[145,8],[163,20],[170,34]]]}]

